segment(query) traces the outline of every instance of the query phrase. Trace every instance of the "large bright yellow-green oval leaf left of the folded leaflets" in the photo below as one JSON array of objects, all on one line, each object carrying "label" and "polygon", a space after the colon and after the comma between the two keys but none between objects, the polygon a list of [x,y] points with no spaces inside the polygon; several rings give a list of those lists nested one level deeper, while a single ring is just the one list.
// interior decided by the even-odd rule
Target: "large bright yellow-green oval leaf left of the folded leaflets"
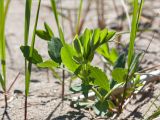
[{"label": "large bright yellow-green oval leaf left of the folded leaflets", "polygon": [[78,68],[78,64],[73,60],[73,56],[76,55],[76,52],[74,51],[73,47],[70,45],[66,44],[64,47],[61,49],[61,58],[63,64],[71,70],[73,73],[75,70]]}]

